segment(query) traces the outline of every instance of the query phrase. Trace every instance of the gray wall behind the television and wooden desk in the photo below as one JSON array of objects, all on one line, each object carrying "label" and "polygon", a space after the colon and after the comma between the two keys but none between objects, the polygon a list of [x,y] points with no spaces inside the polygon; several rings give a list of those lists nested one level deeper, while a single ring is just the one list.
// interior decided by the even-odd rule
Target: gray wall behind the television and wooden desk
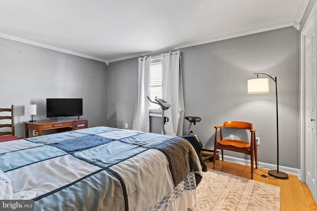
[{"label": "gray wall behind the television and wooden desk", "polygon": [[15,107],[15,134],[24,137],[37,104],[35,120],[46,118],[46,98],[83,98],[89,127],[107,125],[106,63],[0,38],[0,107]]}]

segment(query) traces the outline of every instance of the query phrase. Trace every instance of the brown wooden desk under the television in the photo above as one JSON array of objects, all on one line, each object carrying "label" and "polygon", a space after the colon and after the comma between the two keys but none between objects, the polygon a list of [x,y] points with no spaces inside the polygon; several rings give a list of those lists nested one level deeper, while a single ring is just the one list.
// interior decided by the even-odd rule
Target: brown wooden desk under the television
[{"label": "brown wooden desk under the television", "polygon": [[88,127],[88,119],[79,118],[63,118],[52,119],[36,122],[24,122],[25,124],[25,138],[29,137],[29,130],[34,129],[38,131],[38,135],[42,135],[43,130],[68,128],[69,130],[83,129]]}]

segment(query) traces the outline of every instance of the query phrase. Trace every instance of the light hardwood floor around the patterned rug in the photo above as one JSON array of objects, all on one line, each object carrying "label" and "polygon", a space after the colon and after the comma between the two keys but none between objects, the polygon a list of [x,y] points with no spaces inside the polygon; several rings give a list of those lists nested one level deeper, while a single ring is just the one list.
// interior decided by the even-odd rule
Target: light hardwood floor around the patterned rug
[{"label": "light hardwood floor around the patterned rug", "polygon": [[[213,163],[205,162],[208,169],[212,169]],[[231,173],[237,176],[251,178],[250,166],[217,161],[215,170]],[[289,174],[289,179],[274,179],[262,177],[267,174],[268,169],[255,169],[253,178],[256,181],[264,182],[281,187],[281,211],[317,211],[317,205],[306,184],[302,183],[296,175]]]}]

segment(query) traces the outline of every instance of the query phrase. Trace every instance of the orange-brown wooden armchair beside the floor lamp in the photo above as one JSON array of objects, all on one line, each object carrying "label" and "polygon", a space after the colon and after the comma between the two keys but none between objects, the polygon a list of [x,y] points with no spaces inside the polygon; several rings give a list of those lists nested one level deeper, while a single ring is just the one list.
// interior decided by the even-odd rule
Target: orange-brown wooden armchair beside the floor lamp
[{"label": "orange-brown wooden armchair beside the floor lamp", "polygon": [[[220,128],[220,140],[217,141],[217,132]],[[251,132],[251,141],[242,141],[242,140],[230,140],[223,139],[223,128],[238,128],[238,129],[247,129]],[[253,168],[254,162],[256,162],[256,169],[258,169],[258,153],[257,153],[257,142],[256,142],[256,129],[253,129],[251,123],[246,122],[224,122],[223,126],[215,127],[215,136],[214,136],[214,152],[217,149],[221,149],[221,156],[223,161],[223,150],[230,150],[234,152],[241,152],[251,156],[251,178],[253,179]],[[216,153],[214,153],[215,155]],[[213,158],[213,169],[215,165],[216,159]]]}]

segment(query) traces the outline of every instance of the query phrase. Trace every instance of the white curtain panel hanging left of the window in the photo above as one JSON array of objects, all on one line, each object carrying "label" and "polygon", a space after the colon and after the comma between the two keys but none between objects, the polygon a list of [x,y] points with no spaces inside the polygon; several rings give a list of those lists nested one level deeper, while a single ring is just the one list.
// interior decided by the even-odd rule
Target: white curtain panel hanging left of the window
[{"label": "white curtain panel hanging left of the window", "polygon": [[135,105],[133,130],[150,132],[150,117],[149,117],[149,71],[151,57],[139,58],[138,67],[138,87],[137,99]]}]

